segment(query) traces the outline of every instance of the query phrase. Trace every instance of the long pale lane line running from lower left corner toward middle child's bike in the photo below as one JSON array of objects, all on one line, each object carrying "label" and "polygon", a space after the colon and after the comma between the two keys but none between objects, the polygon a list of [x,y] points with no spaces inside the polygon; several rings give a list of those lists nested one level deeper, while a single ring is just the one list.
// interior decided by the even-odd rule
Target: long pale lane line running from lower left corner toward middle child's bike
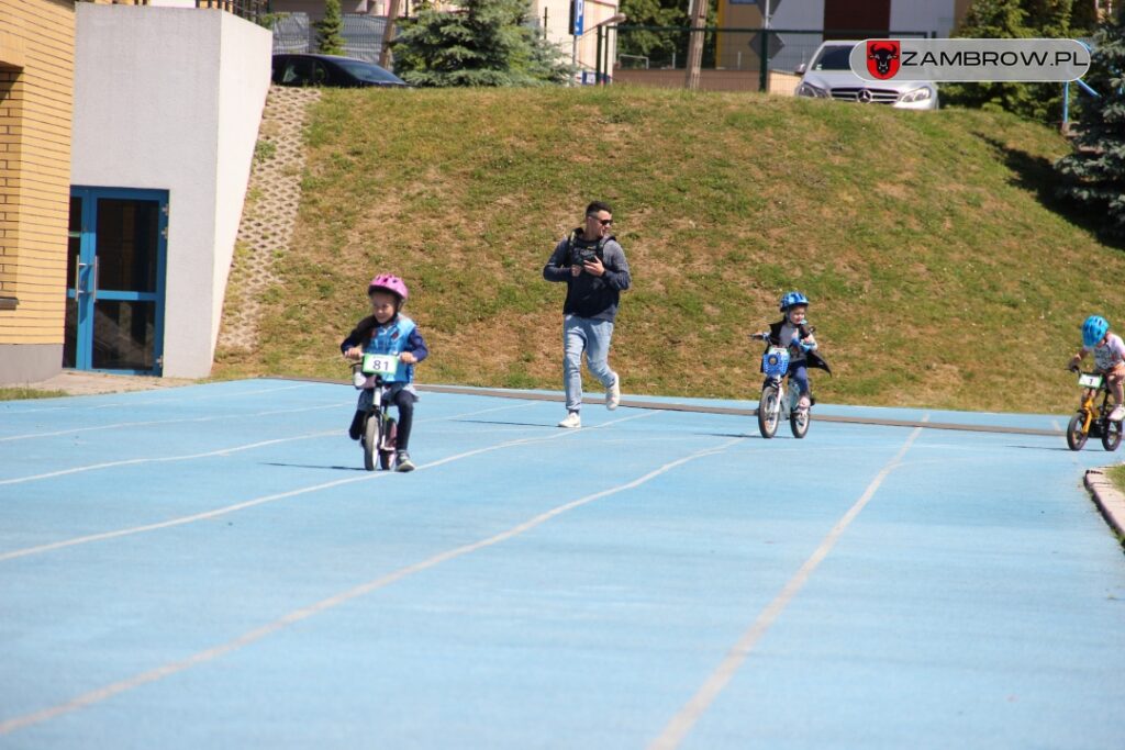
[{"label": "long pale lane line running from lower left corner toward middle child's bike", "polygon": [[[627,417],[627,418],[638,418],[638,417]],[[618,422],[624,422],[624,419],[619,419]],[[604,426],[604,425],[598,425],[598,426]],[[596,430],[597,427],[594,428]],[[577,430],[567,431],[566,434],[575,434],[577,432],[579,431]],[[0,734],[8,734],[25,726],[39,724],[50,719],[55,719],[56,716],[69,714],[80,708],[84,708],[96,703],[100,703],[120,693],[125,693],[127,690],[141,687],[142,685],[155,683],[156,680],[163,679],[171,675],[176,675],[178,672],[191,669],[192,667],[197,667],[208,661],[213,661],[215,659],[218,659],[219,657],[231,653],[232,651],[241,649],[245,645],[250,645],[255,641],[261,641],[262,639],[272,635],[273,633],[277,633],[278,631],[281,631],[290,625],[299,623],[304,620],[308,620],[314,615],[327,612],[328,609],[339,607],[342,604],[345,604],[348,602],[351,602],[352,599],[370,594],[371,591],[377,591],[380,588],[390,586],[392,584],[397,582],[406,578],[407,576],[413,576],[414,573],[418,573],[424,570],[429,570],[430,568],[440,566],[443,562],[449,562],[450,560],[454,560],[466,554],[470,554],[478,550],[483,550],[485,548],[500,544],[501,542],[506,542],[507,540],[524,534],[531,531],[532,528],[547,523],[551,518],[555,518],[556,516],[567,513],[568,510],[582,507],[583,505],[587,505],[590,503],[593,503],[594,500],[608,497],[610,495],[615,495],[618,493],[640,487],[641,485],[659,477],[660,475],[670,471],[672,469],[675,469],[676,467],[683,466],[688,461],[694,461],[695,459],[700,459],[706,455],[716,455],[718,453],[722,453],[728,448],[742,440],[746,439],[736,437],[717,448],[711,448],[703,451],[699,451],[696,453],[692,453],[690,455],[685,455],[684,458],[677,459],[669,463],[665,463],[664,466],[654,469],[652,471],[649,471],[648,473],[638,477],[632,481],[626,482],[623,485],[618,485],[616,487],[611,487],[610,489],[604,489],[600,493],[594,493],[593,495],[586,495],[585,497],[578,498],[577,500],[572,500],[570,503],[566,503],[565,505],[559,505],[555,508],[551,508],[550,510],[547,510],[532,518],[529,518],[523,523],[516,524],[515,526],[512,526],[507,531],[503,531],[498,534],[488,536],[487,539],[483,539],[477,542],[471,542],[469,544],[464,544],[461,546],[457,546],[451,550],[440,552],[431,558],[422,560],[421,562],[415,562],[414,564],[406,566],[405,568],[399,568],[398,570],[380,576],[379,578],[370,580],[366,584],[361,584],[345,591],[341,591],[340,594],[330,596],[326,599],[321,599],[320,602],[312,604],[307,607],[295,609],[289,614],[284,615],[278,620],[274,620],[271,623],[267,623],[266,625],[255,627],[252,631],[248,631],[242,635],[240,635],[238,638],[235,638],[234,640],[227,641],[226,643],[220,643],[219,645],[212,647],[202,651],[198,651],[186,659],[181,659],[179,661],[172,661],[161,667],[156,667],[155,669],[150,669],[148,671],[134,675],[133,677],[119,680],[117,683],[112,683],[110,685],[106,685],[96,690],[90,690],[89,693],[84,693],[78,696],[76,698],[73,698],[72,701],[68,701],[66,703],[61,703],[51,706],[48,708],[36,711],[30,714],[25,714],[22,716],[15,716],[12,719],[6,720],[3,722],[0,722]]]}]

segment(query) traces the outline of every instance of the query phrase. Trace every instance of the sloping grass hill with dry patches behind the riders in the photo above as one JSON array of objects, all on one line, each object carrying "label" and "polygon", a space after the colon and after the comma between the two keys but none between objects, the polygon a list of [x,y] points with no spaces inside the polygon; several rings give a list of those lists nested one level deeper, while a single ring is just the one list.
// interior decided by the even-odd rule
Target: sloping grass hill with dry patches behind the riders
[{"label": "sloping grass hill with dry patches behind the riders", "polygon": [[820,400],[1060,412],[1094,311],[1125,328],[1125,254],[1050,199],[1053,130],[630,89],[325,91],[282,282],[217,377],[345,377],[367,281],[395,272],[423,382],[561,389],[565,288],[542,280],[590,200],[633,271],[611,363],[626,394],[756,398],[746,334],[789,289],[835,376]]}]

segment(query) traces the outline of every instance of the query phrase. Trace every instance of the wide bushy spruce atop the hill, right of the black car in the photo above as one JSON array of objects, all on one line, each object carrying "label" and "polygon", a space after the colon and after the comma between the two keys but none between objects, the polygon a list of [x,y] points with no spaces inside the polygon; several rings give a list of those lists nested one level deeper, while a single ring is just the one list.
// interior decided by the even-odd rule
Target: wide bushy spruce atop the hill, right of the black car
[{"label": "wide bushy spruce atop the hill, right of the black car", "polygon": [[423,8],[395,39],[395,72],[418,87],[565,83],[562,52],[529,24],[528,0],[461,0],[453,12]]}]

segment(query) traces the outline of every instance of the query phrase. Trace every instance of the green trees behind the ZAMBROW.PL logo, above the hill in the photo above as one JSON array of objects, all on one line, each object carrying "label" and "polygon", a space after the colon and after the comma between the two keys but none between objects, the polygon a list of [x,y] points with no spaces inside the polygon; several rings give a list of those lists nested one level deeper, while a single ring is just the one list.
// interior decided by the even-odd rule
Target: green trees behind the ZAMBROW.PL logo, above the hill
[{"label": "green trees behind the ZAMBROW.PL logo, above the hill", "polygon": [[[974,0],[954,36],[971,39],[1068,38],[1073,0]],[[1041,121],[1062,116],[1062,84],[991,81],[942,87],[945,103],[1005,110]]]}]

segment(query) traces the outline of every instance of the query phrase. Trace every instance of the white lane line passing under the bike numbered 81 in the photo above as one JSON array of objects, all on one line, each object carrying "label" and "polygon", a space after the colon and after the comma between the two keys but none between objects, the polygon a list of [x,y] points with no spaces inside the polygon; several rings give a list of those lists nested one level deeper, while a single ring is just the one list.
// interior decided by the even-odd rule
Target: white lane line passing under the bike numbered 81
[{"label": "white lane line passing under the bike numbered 81", "polygon": [[[620,419],[613,419],[611,422],[605,422],[595,427],[587,427],[586,430],[600,430],[601,427],[606,427],[612,424],[620,424],[622,422],[629,422],[631,419],[642,419],[645,417],[652,416],[655,413],[642,413],[633,416],[622,417]],[[452,461],[460,461],[462,459],[468,459],[474,455],[480,455],[482,453],[489,453],[492,451],[498,451],[504,448],[512,448],[515,445],[528,445],[531,443],[542,443],[550,440],[557,440],[559,437],[565,437],[567,435],[576,435],[583,432],[583,430],[564,430],[554,435],[547,437],[523,437],[520,440],[512,440],[505,443],[497,443],[496,445],[487,445],[485,448],[477,448],[471,451],[466,451],[465,453],[458,453],[456,455],[450,455],[444,459],[439,459],[438,461],[431,461],[430,463],[423,463],[417,468],[418,471],[425,469],[433,469]],[[379,471],[375,473],[363,473],[359,477],[349,477],[346,479],[336,479],[334,481],[322,482],[320,485],[312,485],[309,487],[302,487],[299,489],[292,489],[287,493],[276,493],[273,495],[266,495],[263,497],[255,497],[250,500],[244,500],[242,503],[235,503],[234,505],[227,505],[222,508],[215,508],[214,510],[205,510],[204,513],[196,513],[190,516],[181,516],[179,518],[171,518],[169,521],[161,521],[158,523],[145,524],[143,526],[132,526],[129,528],[118,528],[117,531],[107,531],[100,534],[88,534],[86,536],[76,536],[73,539],[63,540],[60,542],[51,542],[48,544],[39,544],[37,546],[28,546],[21,550],[12,550],[11,552],[4,552],[0,554],[0,562],[6,560],[15,560],[17,558],[26,558],[32,554],[42,554],[43,552],[51,552],[54,550],[61,550],[68,546],[76,546],[79,544],[89,544],[90,542],[101,542],[107,539],[117,539],[120,536],[132,536],[134,534],[143,534],[151,531],[159,531],[161,528],[171,528],[172,526],[182,526],[184,524],[196,523],[197,521],[207,521],[208,518],[216,518],[218,516],[224,516],[231,513],[237,513],[238,510],[245,510],[246,508],[252,508],[255,505],[264,505],[266,503],[273,503],[276,500],[284,500],[289,497],[296,497],[298,495],[306,495],[308,493],[317,493],[322,489],[331,489],[333,487],[341,487],[343,485],[352,485],[359,481],[371,481],[374,479],[380,479],[382,477],[388,477],[393,472]]]}]

